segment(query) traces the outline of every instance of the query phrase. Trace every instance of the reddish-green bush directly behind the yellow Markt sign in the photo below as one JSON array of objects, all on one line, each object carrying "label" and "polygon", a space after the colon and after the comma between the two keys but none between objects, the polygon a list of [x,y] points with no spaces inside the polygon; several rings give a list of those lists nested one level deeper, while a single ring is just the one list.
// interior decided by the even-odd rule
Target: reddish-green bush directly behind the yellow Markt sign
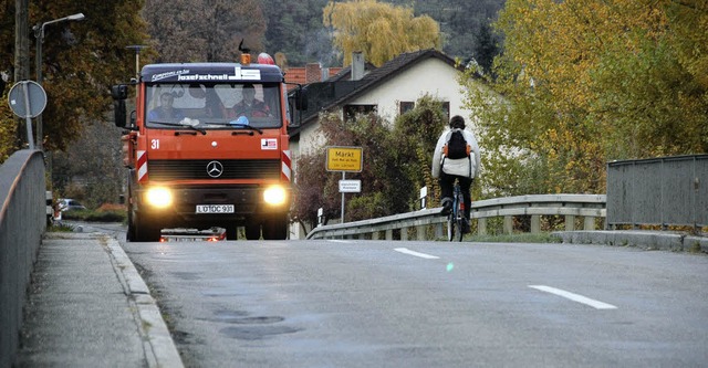
[{"label": "reddish-green bush directly behind the yellow Markt sign", "polygon": [[327,146],[362,147],[362,172],[347,174],[347,179],[362,180],[362,192],[347,201],[346,221],[398,213],[408,208],[408,186],[400,186],[405,183],[404,176],[395,162],[393,137],[385,122],[376,115],[357,115],[353,122],[344,122],[334,114],[325,114],[320,118],[320,133],[325,141],[323,147],[298,159],[294,219],[302,224],[315,223],[319,208],[324,209],[327,219],[341,215],[342,176],[325,171]]}]

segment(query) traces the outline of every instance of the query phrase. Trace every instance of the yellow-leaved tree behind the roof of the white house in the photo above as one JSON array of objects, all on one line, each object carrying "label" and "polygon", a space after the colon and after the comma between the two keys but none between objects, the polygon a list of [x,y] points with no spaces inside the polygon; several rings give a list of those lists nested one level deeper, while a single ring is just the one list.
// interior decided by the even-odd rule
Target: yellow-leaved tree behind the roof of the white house
[{"label": "yellow-leaved tree behind the roof of the white house", "polygon": [[440,49],[440,29],[433,18],[414,17],[412,7],[394,7],[377,0],[330,1],[323,23],[334,33],[334,45],[352,63],[352,52],[361,51],[374,65],[396,55],[423,49]]}]

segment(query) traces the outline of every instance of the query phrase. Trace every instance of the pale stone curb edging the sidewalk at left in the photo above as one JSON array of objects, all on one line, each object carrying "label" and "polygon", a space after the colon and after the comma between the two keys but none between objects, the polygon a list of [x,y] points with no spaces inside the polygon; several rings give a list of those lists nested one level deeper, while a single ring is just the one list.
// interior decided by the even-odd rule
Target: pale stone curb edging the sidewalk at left
[{"label": "pale stone curb edging the sidewalk at left", "polygon": [[167,324],[150,295],[149,288],[137,273],[135,265],[118,241],[106,236],[106,246],[115,262],[116,272],[123,276],[126,294],[137,311],[138,330],[145,340],[145,354],[149,367],[184,367]]}]

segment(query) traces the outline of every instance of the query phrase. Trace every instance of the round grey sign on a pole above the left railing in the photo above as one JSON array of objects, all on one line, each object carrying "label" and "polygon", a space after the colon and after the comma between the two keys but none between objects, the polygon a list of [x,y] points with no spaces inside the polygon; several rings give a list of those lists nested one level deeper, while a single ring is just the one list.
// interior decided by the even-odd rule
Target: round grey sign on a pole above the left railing
[{"label": "round grey sign on a pole above the left railing", "polygon": [[[27,140],[30,149],[34,149],[32,118],[42,114],[44,107],[46,107],[46,93],[44,88],[33,81],[20,81],[10,88],[8,103],[14,115],[24,118],[27,124]],[[38,138],[41,139],[41,137]]]}]

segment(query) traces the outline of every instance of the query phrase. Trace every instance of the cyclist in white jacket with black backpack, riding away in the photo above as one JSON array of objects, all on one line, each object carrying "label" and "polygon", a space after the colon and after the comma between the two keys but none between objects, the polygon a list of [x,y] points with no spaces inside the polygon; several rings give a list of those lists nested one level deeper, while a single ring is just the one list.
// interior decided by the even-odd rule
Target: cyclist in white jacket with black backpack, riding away
[{"label": "cyclist in white jacket with black backpack, riding away", "polygon": [[[469,146],[469,156],[465,158],[448,158],[445,155],[445,148],[454,132],[462,133],[467,145]],[[465,129],[465,118],[459,115],[450,118],[449,129],[440,135],[433,155],[433,177],[439,179],[441,191],[442,214],[448,214],[452,209],[452,187],[455,179],[460,185],[462,199],[465,203],[465,219],[462,232],[469,232],[469,214],[471,206],[470,187],[479,171],[480,154],[479,145],[475,135],[470,130]]]}]

